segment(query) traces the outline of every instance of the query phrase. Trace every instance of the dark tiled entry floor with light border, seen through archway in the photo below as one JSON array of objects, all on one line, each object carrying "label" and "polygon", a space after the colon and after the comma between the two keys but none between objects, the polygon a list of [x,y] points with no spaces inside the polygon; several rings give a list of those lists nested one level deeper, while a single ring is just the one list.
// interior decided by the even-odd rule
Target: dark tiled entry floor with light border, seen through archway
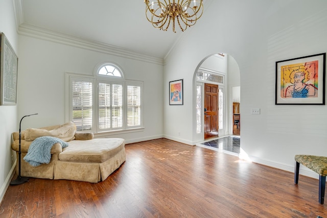
[{"label": "dark tiled entry floor with light border, seen through archway", "polygon": [[200,141],[195,145],[239,157],[241,151],[240,140],[239,135],[227,135]]}]

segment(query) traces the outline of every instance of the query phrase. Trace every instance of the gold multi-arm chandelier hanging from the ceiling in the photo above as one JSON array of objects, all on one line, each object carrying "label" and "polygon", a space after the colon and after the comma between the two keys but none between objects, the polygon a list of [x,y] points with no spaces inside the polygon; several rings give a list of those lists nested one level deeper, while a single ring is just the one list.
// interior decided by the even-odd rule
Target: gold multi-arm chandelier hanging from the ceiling
[{"label": "gold multi-arm chandelier hanging from the ceiling", "polygon": [[[150,0],[151,1],[151,0]],[[173,32],[176,21],[181,31],[195,25],[203,13],[202,0],[144,0],[145,13],[152,26],[167,31],[172,22]],[[177,2],[177,3],[176,3]]]}]

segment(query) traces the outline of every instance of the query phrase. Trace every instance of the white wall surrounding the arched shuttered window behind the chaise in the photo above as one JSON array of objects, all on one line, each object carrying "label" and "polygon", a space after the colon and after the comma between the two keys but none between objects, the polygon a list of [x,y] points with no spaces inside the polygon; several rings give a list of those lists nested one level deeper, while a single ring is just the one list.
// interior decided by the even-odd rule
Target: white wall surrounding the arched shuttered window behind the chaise
[{"label": "white wall surrounding the arched shuttered window behind the chaise", "polygon": [[20,36],[18,116],[38,115],[24,119],[24,128],[63,124],[65,120],[65,72],[94,75],[103,62],[118,64],[125,79],[144,81],[144,131],[110,135],[126,142],[162,137],[163,66],[118,57],[102,52]]}]

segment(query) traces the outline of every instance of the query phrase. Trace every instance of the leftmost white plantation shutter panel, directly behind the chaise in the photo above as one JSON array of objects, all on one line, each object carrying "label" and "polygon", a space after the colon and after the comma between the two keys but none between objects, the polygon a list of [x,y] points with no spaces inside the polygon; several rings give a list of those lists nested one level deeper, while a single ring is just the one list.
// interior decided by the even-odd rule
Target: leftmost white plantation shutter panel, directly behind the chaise
[{"label": "leftmost white plantation shutter panel, directly behind the chaise", "polygon": [[72,79],[72,120],[77,130],[92,129],[92,81]]}]

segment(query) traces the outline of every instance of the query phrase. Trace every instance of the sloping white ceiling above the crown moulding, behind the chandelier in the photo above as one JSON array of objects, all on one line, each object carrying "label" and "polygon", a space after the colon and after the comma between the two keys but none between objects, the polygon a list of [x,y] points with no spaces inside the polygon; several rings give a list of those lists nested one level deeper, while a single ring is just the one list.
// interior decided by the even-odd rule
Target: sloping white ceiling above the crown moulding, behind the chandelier
[{"label": "sloping white ceiling above the crown moulding, behind the chandelier", "polygon": [[[79,37],[162,58],[189,30],[152,27],[143,0],[16,0],[18,25]],[[191,27],[192,28],[192,27]]]}]

